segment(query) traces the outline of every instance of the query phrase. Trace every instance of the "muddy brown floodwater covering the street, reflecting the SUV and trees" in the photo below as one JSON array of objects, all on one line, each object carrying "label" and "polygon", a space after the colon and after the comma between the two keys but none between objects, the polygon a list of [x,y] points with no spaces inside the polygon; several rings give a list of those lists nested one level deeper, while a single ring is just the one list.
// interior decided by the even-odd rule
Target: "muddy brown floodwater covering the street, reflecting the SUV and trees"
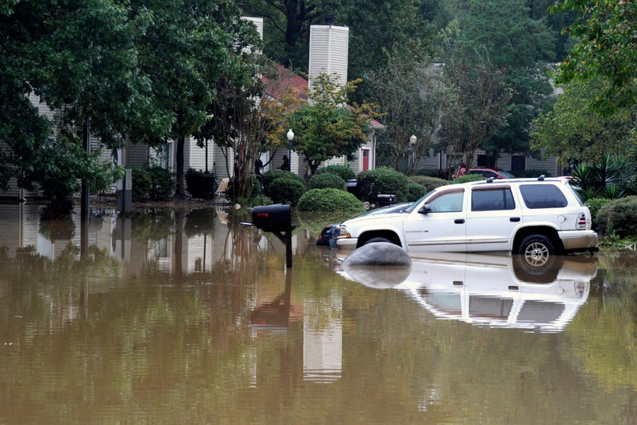
[{"label": "muddy brown floodwater covering the street, reflecting the SUV and trees", "polygon": [[341,267],[231,210],[0,205],[0,424],[635,424],[637,255]]}]

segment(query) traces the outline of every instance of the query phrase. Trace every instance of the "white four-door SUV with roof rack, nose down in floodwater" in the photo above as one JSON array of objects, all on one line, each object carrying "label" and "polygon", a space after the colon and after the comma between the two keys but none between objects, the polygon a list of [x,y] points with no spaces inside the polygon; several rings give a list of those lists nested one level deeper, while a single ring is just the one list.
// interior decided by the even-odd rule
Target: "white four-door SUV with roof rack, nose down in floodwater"
[{"label": "white four-door SUV with roof rack, nose down in floodwater", "polygon": [[336,245],[392,242],[420,251],[552,254],[596,251],[591,217],[566,179],[507,179],[441,186],[403,212],[355,217],[335,229]]}]

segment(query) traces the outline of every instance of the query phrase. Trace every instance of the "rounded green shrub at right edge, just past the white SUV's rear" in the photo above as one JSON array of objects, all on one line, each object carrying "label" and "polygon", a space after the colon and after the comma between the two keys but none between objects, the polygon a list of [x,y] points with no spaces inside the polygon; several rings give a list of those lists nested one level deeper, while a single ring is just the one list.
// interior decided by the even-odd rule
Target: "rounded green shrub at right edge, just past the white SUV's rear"
[{"label": "rounded green shrub at right edge, just past the white SUV's rear", "polygon": [[637,196],[626,196],[605,203],[597,213],[599,232],[607,235],[616,234],[620,238],[636,235],[635,210]]}]

